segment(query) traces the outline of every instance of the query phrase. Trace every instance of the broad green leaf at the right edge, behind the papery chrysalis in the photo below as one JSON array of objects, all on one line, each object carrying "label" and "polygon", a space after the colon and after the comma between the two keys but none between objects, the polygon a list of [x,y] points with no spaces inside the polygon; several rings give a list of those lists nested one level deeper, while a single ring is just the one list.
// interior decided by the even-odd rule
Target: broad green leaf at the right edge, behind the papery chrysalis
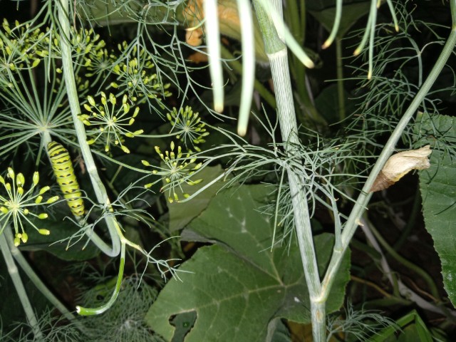
[{"label": "broad green leaf at the right edge, behind the papery chrysalis", "polygon": [[415,125],[430,143],[430,168],[420,172],[423,216],[427,232],[442,263],[445,290],[456,305],[456,120],[450,116],[423,115]]}]

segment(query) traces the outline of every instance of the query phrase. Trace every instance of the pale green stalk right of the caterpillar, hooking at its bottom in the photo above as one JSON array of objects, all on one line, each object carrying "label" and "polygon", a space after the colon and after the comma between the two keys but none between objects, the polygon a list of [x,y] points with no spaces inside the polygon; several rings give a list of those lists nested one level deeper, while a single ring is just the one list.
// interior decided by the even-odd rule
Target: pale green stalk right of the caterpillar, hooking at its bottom
[{"label": "pale green stalk right of the caterpillar, hooking at its bottom", "polygon": [[[83,155],[84,162],[86,163],[86,169],[90,175],[90,181],[92,182],[93,191],[98,199],[98,203],[104,207],[110,207],[110,200],[108,198],[105,186],[100,180],[98,175],[98,169],[93,160],[92,153],[88,147],[86,141],[86,130],[84,124],[78,119],[78,115],[81,114],[81,106],[78,100],[78,90],[76,88],[76,80],[74,77],[73,60],[71,58],[71,46],[70,46],[70,21],[68,18],[68,0],[59,0],[58,4],[58,23],[61,28],[61,51],[62,51],[62,66],[63,66],[63,78],[65,80],[66,91],[68,94],[68,103],[71,109],[71,116],[73,118],[73,125],[76,129],[76,135],[81,147],[81,154]],[[97,244],[97,246],[103,250],[105,254],[110,257],[115,257],[120,252],[120,239],[115,229],[115,218],[113,216],[106,217],[106,224],[109,229],[111,241],[113,242],[112,249],[106,249],[105,244]],[[92,239],[92,241],[94,241]],[[101,240],[95,240],[96,242]]]}]

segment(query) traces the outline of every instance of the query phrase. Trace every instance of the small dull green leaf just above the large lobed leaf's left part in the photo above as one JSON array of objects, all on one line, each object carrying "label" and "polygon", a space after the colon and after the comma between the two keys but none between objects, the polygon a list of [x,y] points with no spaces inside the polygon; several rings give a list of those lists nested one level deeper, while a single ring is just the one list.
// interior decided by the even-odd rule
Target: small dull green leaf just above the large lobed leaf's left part
[{"label": "small dull green leaf just above the large lobed leaf's left part", "polygon": [[[195,175],[195,180],[202,179],[202,182],[195,185],[182,183],[182,192],[187,192],[192,195],[197,190],[207,185],[207,183],[211,180],[214,180],[221,175],[222,172],[222,167],[219,165],[214,167],[204,167],[204,169]],[[204,209],[206,209],[212,197],[214,197],[222,185],[223,182],[217,182],[188,202],[168,203],[168,209],[170,210],[170,231],[175,232],[176,230],[184,228],[190,221],[192,221],[192,219],[197,217]]]}]

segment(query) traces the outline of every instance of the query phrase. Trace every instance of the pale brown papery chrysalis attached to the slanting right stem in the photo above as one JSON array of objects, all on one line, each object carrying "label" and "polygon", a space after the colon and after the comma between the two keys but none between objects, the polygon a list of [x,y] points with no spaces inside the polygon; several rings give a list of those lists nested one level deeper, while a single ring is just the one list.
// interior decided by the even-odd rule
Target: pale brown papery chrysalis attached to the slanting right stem
[{"label": "pale brown papery chrysalis attached to the slanting right stem", "polygon": [[377,178],[375,178],[369,192],[390,187],[390,185],[393,185],[411,170],[427,169],[427,167],[430,167],[427,157],[431,152],[430,145],[426,145],[425,147],[418,148],[418,150],[403,151],[392,155]]}]

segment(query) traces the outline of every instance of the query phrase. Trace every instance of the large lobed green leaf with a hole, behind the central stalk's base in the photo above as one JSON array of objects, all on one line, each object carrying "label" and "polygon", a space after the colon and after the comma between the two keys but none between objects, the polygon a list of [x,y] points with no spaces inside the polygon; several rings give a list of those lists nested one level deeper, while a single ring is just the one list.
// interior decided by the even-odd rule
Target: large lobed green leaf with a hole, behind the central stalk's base
[{"label": "large lobed green leaf with a hole, behind the central stalk's base", "polygon": [[[244,185],[220,192],[190,224],[184,237],[212,241],[182,264],[180,280],[172,279],[146,316],[150,327],[168,341],[175,328],[170,318],[195,311],[195,326],[185,341],[265,341],[274,318],[309,323],[309,293],[299,249],[270,252],[274,220],[259,212],[270,188]],[[333,249],[333,235],[314,240],[318,269],[325,270]],[[343,303],[349,279],[349,253],[327,301],[327,312]]]}]

